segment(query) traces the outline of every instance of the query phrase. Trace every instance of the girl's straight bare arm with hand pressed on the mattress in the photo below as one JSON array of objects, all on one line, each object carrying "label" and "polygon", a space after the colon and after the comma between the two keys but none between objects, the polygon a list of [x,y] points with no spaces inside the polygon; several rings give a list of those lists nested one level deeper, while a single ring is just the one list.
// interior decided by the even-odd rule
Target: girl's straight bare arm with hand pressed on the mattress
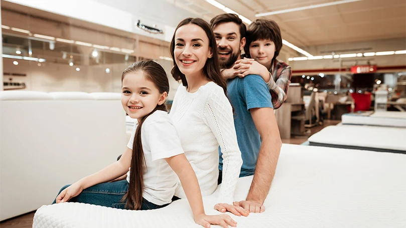
[{"label": "girl's straight bare arm with hand pressed on the mattress", "polygon": [[197,181],[196,174],[185,154],[175,155],[173,157],[165,158],[165,160],[175,171],[179,177],[179,180],[181,181],[183,190],[185,191],[190,207],[192,208],[193,217],[196,223],[203,225],[204,227],[210,227],[210,224],[219,224],[223,227],[227,227],[227,224],[236,226],[237,222],[234,221],[230,215],[205,214],[199,182]]}]

